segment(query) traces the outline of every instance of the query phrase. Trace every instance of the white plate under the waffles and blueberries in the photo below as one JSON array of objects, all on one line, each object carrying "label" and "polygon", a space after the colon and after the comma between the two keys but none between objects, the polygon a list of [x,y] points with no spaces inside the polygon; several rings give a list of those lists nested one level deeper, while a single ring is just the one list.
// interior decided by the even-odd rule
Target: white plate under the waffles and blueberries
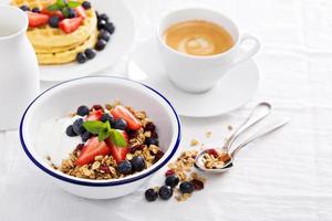
[{"label": "white plate under the waffles and blueberries", "polygon": [[135,22],[131,11],[118,0],[91,0],[100,13],[106,13],[115,25],[115,32],[104,51],[84,64],[75,62],[64,65],[41,65],[40,80],[62,82],[91,75],[115,64],[132,46],[135,38]]}]

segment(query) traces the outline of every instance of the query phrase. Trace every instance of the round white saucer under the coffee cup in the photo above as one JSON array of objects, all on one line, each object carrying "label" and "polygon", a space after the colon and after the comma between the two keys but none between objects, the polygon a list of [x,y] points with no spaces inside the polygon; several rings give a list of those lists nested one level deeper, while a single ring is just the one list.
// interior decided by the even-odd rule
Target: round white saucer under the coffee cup
[{"label": "round white saucer under the coffee cup", "polygon": [[159,91],[173,103],[179,115],[188,117],[211,117],[237,109],[256,94],[259,86],[258,67],[253,60],[249,60],[229,71],[207,93],[183,92],[167,78],[154,39],[135,49],[127,74],[128,78]]}]

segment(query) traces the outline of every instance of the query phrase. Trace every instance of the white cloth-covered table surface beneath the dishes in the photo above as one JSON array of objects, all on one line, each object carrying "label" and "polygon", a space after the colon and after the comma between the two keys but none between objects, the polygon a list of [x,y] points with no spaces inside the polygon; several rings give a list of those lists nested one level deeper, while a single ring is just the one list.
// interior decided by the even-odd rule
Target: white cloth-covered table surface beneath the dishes
[{"label": "white cloth-covered table surface beneath the dishes", "polygon": [[[74,197],[29,162],[17,131],[1,133],[0,220],[332,220],[332,2],[125,2],[137,22],[135,45],[153,35],[163,12],[199,4],[225,12],[262,42],[256,56],[261,73],[256,97],[220,117],[181,118],[181,149],[189,148],[194,137],[220,145],[227,126],[238,125],[260,101],[272,103],[274,117],[289,116],[291,124],[242,150],[230,172],[209,176],[206,188],[181,203],[145,202],[144,189],[160,185],[163,171],[124,198],[96,201]],[[128,56],[107,73],[124,74],[126,61]],[[212,131],[209,139],[207,130]]]}]

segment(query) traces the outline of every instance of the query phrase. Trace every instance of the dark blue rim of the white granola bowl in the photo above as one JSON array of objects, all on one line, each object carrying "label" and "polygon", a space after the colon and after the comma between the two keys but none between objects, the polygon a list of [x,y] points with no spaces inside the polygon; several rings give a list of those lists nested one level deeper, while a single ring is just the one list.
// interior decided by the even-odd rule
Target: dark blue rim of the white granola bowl
[{"label": "dark blue rim of the white granola bowl", "polygon": [[[141,84],[143,85],[144,87],[153,91],[154,93],[156,93],[157,95],[159,95],[168,105],[169,107],[172,108],[175,117],[176,117],[176,122],[177,122],[177,128],[178,128],[178,134],[177,134],[177,138],[176,138],[176,143],[173,147],[173,150],[172,152],[169,154],[169,156],[164,159],[164,161],[158,165],[158,167],[152,169],[151,171],[146,172],[146,173],[142,173],[137,177],[133,177],[133,178],[129,178],[129,179],[126,179],[126,180],[111,180],[108,182],[92,182],[92,181],[81,181],[81,180],[74,180],[74,179],[71,179],[71,178],[68,178],[68,177],[63,177],[61,175],[58,175],[55,172],[53,172],[52,170],[45,168],[44,166],[42,166],[37,159],[34,159],[34,157],[31,155],[31,152],[29,151],[29,149],[27,148],[27,145],[24,143],[24,139],[23,139],[23,123],[24,123],[24,118],[25,118],[25,115],[28,113],[28,110],[30,109],[30,107],[34,104],[34,102],[37,99],[39,99],[43,94],[48,93],[49,91],[53,90],[54,87],[58,87],[62,84],[65,84],[65,83],[69,83],[69,82],[73,82],[73,81],[79,81],[79,80],[84,80],[84,78],[90,78],[90,77],[110,77],[110,78],[120,78],[120,80],[125,80],[125,81],[128,81],[128,82],[134,82],[136,84]],[[66,181],[66,182],[70,182],[70,183],[73,183],[73,185],[80,185],[80,186],[87,186],[87,187],[110,187],[110,186],[120,186],[120,185],[125,185],[125,183],[129,183],[129,182],[134,182],[136,180],[139,180],[139,179],[143,179],[145,177],[148,177],[149,175],[156,172],[157,170],[159,170],[162,167],[164,167],[170,159],[172,157],[175,155],[175,152],[177,151],[178,149],[178,146],[179,146],[179,143],[180,143],[180,138],[181,138],[181,126],[180,126],[180,120],[179,120],[179,117],[175,110],[175,108],[173,107],[173,105],[170,104],[170,102],[164,96],[162,95],[159,92],[157,92],[156,90],[141,83],[141,82],[136,82],[136,81],[133,81],[133,80],[128,80],[128,78],[125,78],[125,77],[118,77],[118,76],[85,76],[85,77],[79,77],[79,78],[73,78],[73,80],[69,80],[69,81],[65,81],[65,82],[62,82],[60,84],[56,84],[48,90],[45,90],[44,92],[42,92],[40,95],[38,95],[38,97],[35,97],[31,103],[30,105],[27,107],[27,109],[24,110],[24,114],[21,118],[21,123],[20,123],[20,141],[21,141],[21,145],[23,147],[23,150],[24,152],[27,154],[27,156],[29,157],[29,159],[37,166],[39,167],[41,170],[43,170],[44,172],[49,173],[50,176],[56,178],[56,179],[60,179],[62,181]]]}]

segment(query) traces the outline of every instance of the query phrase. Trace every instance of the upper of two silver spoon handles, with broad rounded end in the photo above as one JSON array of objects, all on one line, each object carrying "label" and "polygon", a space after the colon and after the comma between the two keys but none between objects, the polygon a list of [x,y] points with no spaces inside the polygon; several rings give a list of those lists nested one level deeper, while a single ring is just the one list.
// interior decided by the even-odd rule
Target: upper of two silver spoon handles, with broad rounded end
[{"label": "upper of two silver spoon handles, with broad rounded end", "polygon": [[260,120],[266,118],[271,113],[271,109],[272,109],[272,106],[269,103],[267,103],[267,102],[259,103],[253,108],[253,110],[251,112],[249,117],[246,119],[246,122],[238,129],[236,129],[235,133],[226,140],[226,143],[222,147],[222,150],[225,152],[228,152],[232,143],[243,131],[246,131],[247,129],[249,129],[250,127],[252,127],[253,125],[256,125],[257,123],[259,123]]}]

